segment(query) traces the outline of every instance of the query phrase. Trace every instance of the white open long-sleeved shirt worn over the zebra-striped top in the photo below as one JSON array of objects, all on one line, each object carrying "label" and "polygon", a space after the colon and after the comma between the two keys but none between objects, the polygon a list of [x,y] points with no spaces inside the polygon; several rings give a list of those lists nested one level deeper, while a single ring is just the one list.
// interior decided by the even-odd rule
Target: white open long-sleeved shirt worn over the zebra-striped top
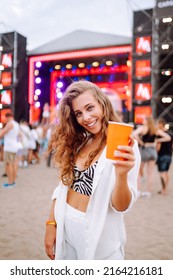
[{"label": "white open long-sleeved shirt worn over the zebra-striped top", "polygon": [[[137,177],[140,166],[140,153],[137,141],[133,146],[135,165],[128,173],[128,186],[131,191],[131,202],[125,211],[117,211],[111,205],[111,194],[115,186],[115,167],[106,159],[106,148],[103,150],[95,169],[92,196],[86,211],[86,260],[100,259],[109,256],[126,242],[123,215],[129,211],[137,198]],[[52,199],[56,199],[54,215],[57,223],[55,259],[63,259],[65,254],[64,217],[68,187],[59,183]]]}]

